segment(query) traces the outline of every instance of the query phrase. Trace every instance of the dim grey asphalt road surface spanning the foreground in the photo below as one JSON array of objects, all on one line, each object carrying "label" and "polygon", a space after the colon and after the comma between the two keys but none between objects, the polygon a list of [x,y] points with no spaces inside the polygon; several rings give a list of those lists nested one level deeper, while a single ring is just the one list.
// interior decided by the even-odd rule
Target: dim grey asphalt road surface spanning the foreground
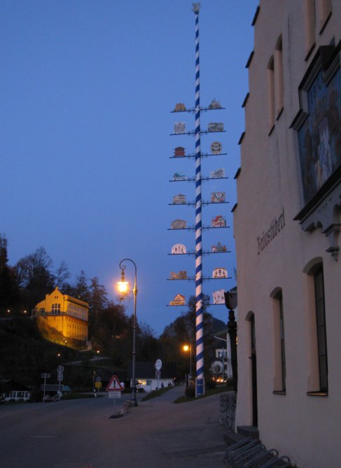
[{"label": "dim grey asphalt road surface spanning the foreground", "polygon": [[225,466],[219,396],[174,404],[183,391],[175,387],[160,397],[139,401],[122,418],[110,416],[123,399],[107,395],[1,405],[0,468]]}]

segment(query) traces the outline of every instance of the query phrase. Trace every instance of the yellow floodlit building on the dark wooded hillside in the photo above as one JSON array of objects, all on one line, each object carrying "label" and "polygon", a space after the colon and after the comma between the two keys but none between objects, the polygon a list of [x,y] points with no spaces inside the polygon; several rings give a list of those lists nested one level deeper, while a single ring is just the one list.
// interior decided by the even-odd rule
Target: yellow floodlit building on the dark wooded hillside
[{"label": "yellow floodlit building on the dark wooded hillside", "polygon": [[58,288],[36,304],[34,315],[45,318],[47,325],[62,333],[65,338],[88,340],[88,303],[63,295]]}]

